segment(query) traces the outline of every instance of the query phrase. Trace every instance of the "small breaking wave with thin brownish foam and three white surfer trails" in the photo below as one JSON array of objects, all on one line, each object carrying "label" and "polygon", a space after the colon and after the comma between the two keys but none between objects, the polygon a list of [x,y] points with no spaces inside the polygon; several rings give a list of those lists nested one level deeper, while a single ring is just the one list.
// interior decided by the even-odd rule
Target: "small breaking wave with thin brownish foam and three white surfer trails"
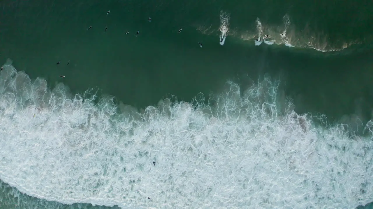
[{"label": "small breaking wave with thin brownish foam and three white surfer trails", "polygon": [[[253,41],[256,46],[262,43],[267,45],[285,45],[288,47],[310,48],[321,52],[341,51],[353,44],[361,44],[358,40],[339,42],[332,44],[327,34],[311,31],[307,24],[304,29],[299,31],[299,28],[291,25],[291,18],[288,14],[283,16],[282,25],[271,25],[260,21],[259,17],[255,20],[255,29],[245,30],[230,29],[229,22],[230,14],[221,11],[219,15],[219,29],[212,25],[194,25],[194,27],[203,34],[212,35],[219,32],[219,44],[224,45],[226,36],[229,35],[236,38],[241,38],[245,41]],[[235,21],[235,20],[232,20]],[[250,24],[249,24],[250,25]]]}]

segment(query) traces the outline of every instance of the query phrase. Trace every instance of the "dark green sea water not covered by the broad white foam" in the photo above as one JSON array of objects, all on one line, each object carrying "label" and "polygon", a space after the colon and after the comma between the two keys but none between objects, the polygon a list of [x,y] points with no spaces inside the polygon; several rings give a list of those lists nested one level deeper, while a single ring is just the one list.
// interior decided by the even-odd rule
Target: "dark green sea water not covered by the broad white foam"
[{"label": "dark green sea water not covered by the broad white foam", "polygon": [[[373,116],[373,1],[3,0],[0,8],[0,61],[11,58],[51,89],[60,82],[73,94],[99,87],[145,109],[170,95],[190,101],[200,92],[219,93],[227,80],[245,90],[269,75],[299,114],[325,114],[358,133],[364,127],[356,121]],[[222,12],[229,14],[223,46]],[[257,18],[264,34],[281,42],[284,16],[294,47],[255,46]],[[68,208],[15,194],[24,196],[25,208],[35,201],[37,208]],[[2,199],[1,208],[16,199]]]}]

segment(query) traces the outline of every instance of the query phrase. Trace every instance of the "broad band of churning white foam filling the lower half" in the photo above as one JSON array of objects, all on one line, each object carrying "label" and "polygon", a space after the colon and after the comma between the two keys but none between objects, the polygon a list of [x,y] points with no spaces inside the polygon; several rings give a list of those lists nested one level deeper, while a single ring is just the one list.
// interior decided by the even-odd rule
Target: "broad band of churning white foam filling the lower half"
[{"label": "broad band of churning white foam filling the lower half", "polygon": [[[372,140],[316,127],[268,78],[144,113],[4,65],[0,179],[38,198],[121,208],[354,208],[372,201]],[[371,123],[369,123],[371,124]],[[369,126],[367,130],[372,130]],[[155,166],[153,165],[155,162]],[[148,199],[150,197],[151,199]]]}]

